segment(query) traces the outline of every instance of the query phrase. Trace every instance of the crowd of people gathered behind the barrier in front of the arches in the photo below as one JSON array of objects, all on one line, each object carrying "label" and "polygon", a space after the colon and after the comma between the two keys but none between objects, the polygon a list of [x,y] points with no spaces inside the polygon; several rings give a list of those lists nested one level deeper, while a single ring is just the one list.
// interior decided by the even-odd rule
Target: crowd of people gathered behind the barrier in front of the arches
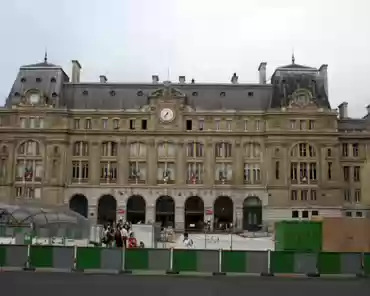
[{"label": "crowd of people gathered behind the barrier in front of the arches", "polygon": [[137,243],[132,225],[129,222],[123,222],[120,219],[116,225],[104,226],[102,243],[108,247],[116,246],[117,248],[144,248],[144,243]]}]

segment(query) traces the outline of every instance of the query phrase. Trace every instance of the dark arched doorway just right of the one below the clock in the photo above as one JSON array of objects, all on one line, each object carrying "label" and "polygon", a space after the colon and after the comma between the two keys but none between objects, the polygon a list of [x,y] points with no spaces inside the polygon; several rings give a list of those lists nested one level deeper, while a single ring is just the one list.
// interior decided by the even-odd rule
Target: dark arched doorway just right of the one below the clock
[{"label": "dark arched doorway just right of the one below the clock", "polygon": [[199,196],[190,196],[185,201],[185,230],[204,229],[204,202]]}]

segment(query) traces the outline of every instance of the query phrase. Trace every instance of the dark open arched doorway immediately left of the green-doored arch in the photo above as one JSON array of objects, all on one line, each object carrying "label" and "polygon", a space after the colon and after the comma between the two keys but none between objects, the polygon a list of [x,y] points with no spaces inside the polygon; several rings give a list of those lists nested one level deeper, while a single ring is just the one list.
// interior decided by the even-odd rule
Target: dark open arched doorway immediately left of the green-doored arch
[{"label": "dark open arched doorway immediately left of the green-doored arch", "polygon": [[215,230],[228,230],[234,222],[234,203],[229,196],[219,196],[214,203]]}]

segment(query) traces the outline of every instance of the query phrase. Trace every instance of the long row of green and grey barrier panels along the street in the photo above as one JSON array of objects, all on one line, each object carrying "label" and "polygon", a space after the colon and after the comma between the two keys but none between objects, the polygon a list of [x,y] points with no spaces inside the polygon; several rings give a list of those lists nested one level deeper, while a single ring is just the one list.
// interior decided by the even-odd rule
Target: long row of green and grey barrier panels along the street
[{"label": "long row of green and grey barrier panels along the street", "polygon": [[272,275],[370,275],[370,253],[296,253],[0,245],[1,270]]}]

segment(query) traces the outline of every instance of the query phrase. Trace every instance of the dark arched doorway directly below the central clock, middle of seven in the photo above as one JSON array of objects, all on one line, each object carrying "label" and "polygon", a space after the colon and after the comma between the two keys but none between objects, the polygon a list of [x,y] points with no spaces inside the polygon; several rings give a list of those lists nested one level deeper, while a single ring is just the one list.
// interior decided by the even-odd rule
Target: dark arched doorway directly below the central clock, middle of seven
[{"label": "dark arched doorway directly below the central clock, middle of seven", "polygon": [[155,203],[155,221],[162,227],[175,227],[175,201],[171,196],[160,196]]}]

